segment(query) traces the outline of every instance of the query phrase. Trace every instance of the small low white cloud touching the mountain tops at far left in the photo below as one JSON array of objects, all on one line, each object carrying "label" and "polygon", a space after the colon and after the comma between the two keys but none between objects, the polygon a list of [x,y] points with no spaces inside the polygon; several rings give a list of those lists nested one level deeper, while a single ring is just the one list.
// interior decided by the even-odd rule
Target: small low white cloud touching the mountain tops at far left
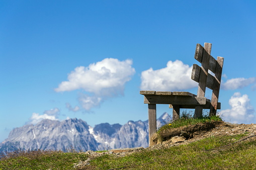
[{"label": "small low white cloud touching the mountain tops at far left", "polygon": [[59,114],[58,108],[46,110],[42,115],[40,115],[39,113],[32,113],[32,116],[29,118],[30,121],[28,123],[37,124],[43,119],[58,120],[58,114]]}]

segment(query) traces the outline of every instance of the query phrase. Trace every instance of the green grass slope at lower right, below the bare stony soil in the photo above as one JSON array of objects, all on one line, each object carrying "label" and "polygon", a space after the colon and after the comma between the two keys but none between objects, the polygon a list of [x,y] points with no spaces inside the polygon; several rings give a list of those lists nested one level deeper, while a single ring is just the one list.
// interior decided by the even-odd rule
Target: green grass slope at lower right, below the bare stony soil
[{"label": "green grass slope at lower right, below the bare stony soil", "polygon": [[[158,150],[143,150],[124,157],[104,155],[91,161],[95,169],[255,169],[255,140],[237,142],[243,135],[209,137]],[[207,149],[216,148],[211,151]]]}]

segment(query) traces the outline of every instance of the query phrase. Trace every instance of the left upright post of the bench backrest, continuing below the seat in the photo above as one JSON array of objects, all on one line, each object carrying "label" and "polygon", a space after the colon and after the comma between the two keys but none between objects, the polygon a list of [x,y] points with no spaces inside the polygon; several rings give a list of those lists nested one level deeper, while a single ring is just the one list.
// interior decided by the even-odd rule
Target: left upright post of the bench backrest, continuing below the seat
[{"label": "left upright post of the bench backrest, continuing below the seat", "polygon": [[[211,43],[204,44],[204,51],[202,57],[202,66],[200,71],[199,77],[199,85],[197,91],[197,97],[204,97],[205,96],[205,89],[206,89],[206,80],[208,75],[208,68],[209,68],[209,56],[211,54]],[[195,117],[201,117],[203,113],[203,106],[196,106],[195,108]]]}]

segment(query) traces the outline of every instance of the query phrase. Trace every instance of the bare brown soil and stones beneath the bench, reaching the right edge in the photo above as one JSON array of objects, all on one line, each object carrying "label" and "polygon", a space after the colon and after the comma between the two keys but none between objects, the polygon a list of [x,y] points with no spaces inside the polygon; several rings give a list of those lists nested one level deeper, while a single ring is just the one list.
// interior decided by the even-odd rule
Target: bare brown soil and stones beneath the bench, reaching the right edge
[{"label": "bare brown soil and stones beneath the bench, reaching the right edge", "polygon": [[[160,133],[162,138],[160,137],[161,139],[159,139],[159,136],[158,138],[155,138],[154,140],[157,144],[148,147],[148,149],[188,144],[210,136],[236,134],[246,134],[246,136],[256,135],[256,124],[235,124],[218,121],[169,129]],[[173,143],[171,139],[174,136],[184,136],[187,138],[187,140]]]}]

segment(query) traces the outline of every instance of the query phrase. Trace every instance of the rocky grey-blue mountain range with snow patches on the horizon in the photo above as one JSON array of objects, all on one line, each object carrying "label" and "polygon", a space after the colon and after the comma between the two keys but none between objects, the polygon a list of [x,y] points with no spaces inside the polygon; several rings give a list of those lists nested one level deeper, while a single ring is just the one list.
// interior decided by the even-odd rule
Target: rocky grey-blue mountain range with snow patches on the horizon
[{"label": "rocky grey-blue mountain range with snow patches on the horizon", "polygon": [[[163,113],[157,119],[159,127],[170,116]],[[81,119],[44,119],[36,125],[27,124],[14,128],[7,139],[0,143],[0,151],[17,149],[107,150],[126,147],[148,146],[148,120],[128,121],[124,125],[101,123],[95,127]]]}]

